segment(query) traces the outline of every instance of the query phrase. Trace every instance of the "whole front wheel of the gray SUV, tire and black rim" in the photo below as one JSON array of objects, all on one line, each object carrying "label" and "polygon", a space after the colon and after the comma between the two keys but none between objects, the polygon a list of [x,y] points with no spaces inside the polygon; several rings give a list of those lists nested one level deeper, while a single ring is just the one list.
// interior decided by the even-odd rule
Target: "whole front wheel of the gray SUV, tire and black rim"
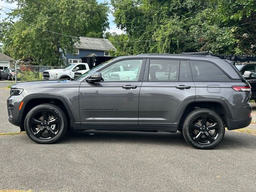
[{"label": "whole front wheel of the gray SUV, tire and black rim", "polygon": [[28,137],[39,144],[52,144],[66,133],[67,118],[61,108],[53,104],[40,104],[26,115],[24,128]]}]

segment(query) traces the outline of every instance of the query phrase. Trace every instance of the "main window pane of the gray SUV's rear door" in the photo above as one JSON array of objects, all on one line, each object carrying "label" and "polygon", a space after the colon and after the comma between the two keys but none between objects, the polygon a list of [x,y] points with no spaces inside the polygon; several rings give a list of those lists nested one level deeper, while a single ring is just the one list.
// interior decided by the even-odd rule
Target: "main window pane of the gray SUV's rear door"
[{"label": "main window pane of the gray SUV's rear door", "polygon": [[150,60],[148,81],[178,81],[179,60]]}]

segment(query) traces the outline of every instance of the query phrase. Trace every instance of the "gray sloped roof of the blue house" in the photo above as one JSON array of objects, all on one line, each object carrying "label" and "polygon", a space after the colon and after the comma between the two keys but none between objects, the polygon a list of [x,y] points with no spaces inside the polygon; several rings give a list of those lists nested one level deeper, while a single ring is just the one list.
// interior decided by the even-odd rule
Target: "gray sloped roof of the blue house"
[{"label": "gray sloped roof of the blue house", "polygon": [[116,50],[114,45],[108,39],[93,38],[93,37],[80,37],[80,43],[74,44],[75,48],[88,49],[88,50]]}]

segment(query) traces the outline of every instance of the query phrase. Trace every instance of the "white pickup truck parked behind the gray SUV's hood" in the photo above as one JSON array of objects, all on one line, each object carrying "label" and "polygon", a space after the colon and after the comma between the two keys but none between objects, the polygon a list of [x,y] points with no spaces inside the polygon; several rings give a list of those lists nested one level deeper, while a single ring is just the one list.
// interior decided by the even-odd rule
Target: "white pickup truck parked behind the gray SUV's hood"
[{"label": "white pickup truck parked behind the gray SUV's hood", "polygon": [[76,71],[83,70],[84,72],[90,70],[87,63],[70,63],[62,69],[50,69],[43,72],[43,79],[71,79],[74,77]]}]

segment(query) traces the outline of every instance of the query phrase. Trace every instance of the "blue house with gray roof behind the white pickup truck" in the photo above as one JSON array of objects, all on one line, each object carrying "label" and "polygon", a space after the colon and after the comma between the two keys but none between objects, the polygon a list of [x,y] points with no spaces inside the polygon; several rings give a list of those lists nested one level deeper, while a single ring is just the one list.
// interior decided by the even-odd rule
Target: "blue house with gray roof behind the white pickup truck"
[{"label": "blue house with gray roof behind the white pickup truck", "polygon": [[80,43],[74,44],[76,54],[67,53],[66,64],[80,63],[81,57],[87,56],[110,56],[110,50],[116,50],[108,39],[80,37]]}]

